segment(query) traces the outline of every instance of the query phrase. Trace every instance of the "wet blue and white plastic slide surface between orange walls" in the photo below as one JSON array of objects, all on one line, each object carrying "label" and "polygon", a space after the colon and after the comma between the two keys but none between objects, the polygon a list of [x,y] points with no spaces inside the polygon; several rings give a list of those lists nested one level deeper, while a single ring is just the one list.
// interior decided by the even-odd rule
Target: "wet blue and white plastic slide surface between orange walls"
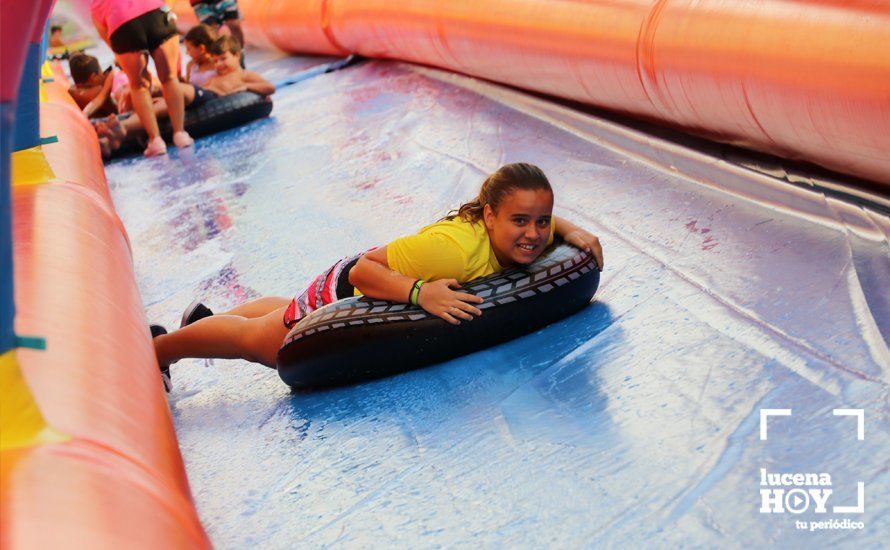
[{"label": "wet blue and white plastic slide surface between orange walls", "polygon": [[[251,68],[277,79],[320,61]],[[676,147],[406,64],[274,98],[268,120],[107,167],[151,321],[178,326],[194,297],[222,311],[291,296],[441,217],[505,162],[544,169],[556,213],[600,235],[606,270],[570,319],[358,386],[294,394],[243,361],[174,365],[170,406],[216,546],[890,536],[886,214],[694,154],[681,165]],[[766,408],[793,414],[763,441]],[[838,408],[864,409],[864,440]],[[761,514],[761,468],[828,473],[829,512],[855,506],[863,482],[865,511]],[[795,528],[845,518],[865,529]]]}]

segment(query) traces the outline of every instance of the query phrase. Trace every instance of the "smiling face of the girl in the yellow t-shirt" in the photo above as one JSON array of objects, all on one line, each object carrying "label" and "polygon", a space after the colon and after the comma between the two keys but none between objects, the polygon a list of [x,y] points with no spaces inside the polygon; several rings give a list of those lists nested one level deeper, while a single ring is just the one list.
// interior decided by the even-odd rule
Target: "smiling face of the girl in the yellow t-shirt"
[{"label": "smiling face of the girl in the yellow t-shirt", "polygon": [[514,189],[493,209],[483,211],[491,248],[502,266],[535,261],[550,237],[553,193],[546,189]]}]

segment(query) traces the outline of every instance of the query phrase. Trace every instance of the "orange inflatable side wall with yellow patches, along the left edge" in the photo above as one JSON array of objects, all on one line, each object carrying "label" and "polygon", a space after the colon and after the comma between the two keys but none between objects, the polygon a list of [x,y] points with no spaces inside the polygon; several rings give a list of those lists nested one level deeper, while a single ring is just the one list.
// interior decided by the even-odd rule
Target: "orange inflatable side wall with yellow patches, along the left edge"
[{"label": "orange inflatable side wall with yellow patches, along the left edge", "polygon": [[96,134],[60,78],[40,109],[58,141],[12,155],[15,329],[46,349],[3,357],[0,541],[206,548]]}]

